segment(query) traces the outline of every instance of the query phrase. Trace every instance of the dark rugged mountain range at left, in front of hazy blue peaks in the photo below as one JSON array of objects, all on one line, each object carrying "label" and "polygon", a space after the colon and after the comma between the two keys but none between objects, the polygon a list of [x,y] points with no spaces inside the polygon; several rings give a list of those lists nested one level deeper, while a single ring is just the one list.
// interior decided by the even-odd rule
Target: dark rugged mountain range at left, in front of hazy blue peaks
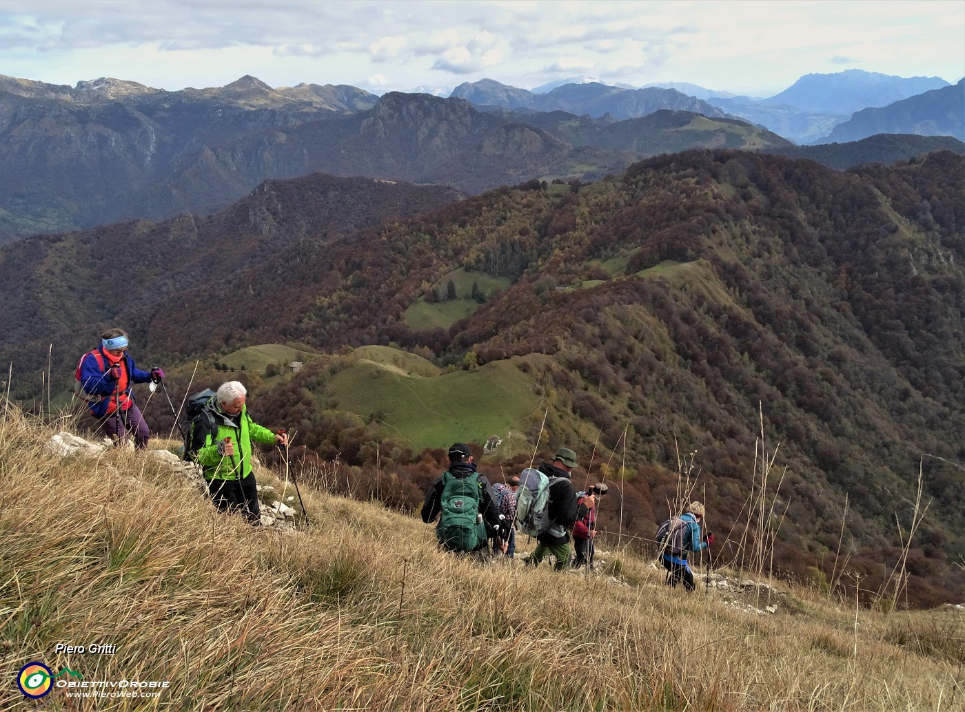
[{"label": "dark rugged mountain range at left, in front of hazy blue peaks", "polygon": [[0,244],[119,220],[207,214],[265,179],[316,171],[481,193],[534,177],[602,177],[646,155],[695,146],[788,145],[742,122],[678,114],[688,119],[670,127],[637,121],[612,131],[602,121],[595,133],[605,146],[569,145],[568,131],[557,135],[523,115],[496,116],[428,94],[273,90],[251,76],[208,90],[164,92],[113,79],[71,89],[0,75]]}]

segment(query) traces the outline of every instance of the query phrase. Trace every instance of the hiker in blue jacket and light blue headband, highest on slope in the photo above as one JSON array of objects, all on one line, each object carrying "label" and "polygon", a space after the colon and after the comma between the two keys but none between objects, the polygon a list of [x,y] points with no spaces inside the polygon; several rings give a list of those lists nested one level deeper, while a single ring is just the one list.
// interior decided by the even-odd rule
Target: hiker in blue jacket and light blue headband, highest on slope
[{"label": "hiker in blue jacket and light blue headband, highest on slope", "polygon": [[151,430],[134,402],[131,385],[160,382],[164,371],[142,371],[127,354],[127,333],[108,329],[100,335],[100,346],[80,357],[74,373],[74,392],[87,403],[95,428],[116,443],[134,434],[134,447],[148,447]]}]

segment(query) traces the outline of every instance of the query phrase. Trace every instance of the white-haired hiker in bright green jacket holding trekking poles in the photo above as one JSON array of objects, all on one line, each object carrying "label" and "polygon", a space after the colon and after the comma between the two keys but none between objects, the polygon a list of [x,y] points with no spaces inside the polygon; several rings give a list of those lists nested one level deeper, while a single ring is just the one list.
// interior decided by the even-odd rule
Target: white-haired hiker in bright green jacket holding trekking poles
[{"label": "white-haired hiker in bright green jacket holding trekking poles", "polygon": [[251,441],[284,447],[288,435],[274,434],[248,415],[248,391],[237,381],[222,383],[215,398],[217,432],[207,435],[198,450],[207,490],[222,512],[240,512],[253,526],[262,526],[258,483],[251,466]]}]

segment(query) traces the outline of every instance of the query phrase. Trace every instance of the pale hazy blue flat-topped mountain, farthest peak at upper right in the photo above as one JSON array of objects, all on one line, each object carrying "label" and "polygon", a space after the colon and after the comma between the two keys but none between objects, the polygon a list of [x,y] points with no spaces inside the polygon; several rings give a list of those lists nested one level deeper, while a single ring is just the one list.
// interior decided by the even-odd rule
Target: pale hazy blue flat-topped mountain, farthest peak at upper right
[{"label": "pale hazy blue flat-topped mountain, farthest peak at upper right", "polygon": [[835,74],[806,74],[761,103],[786,104],[808,112],[853,114],[869,106],[888,106],[922,92],[948,87],[941,77],[898,77],[864,69],[846,69]]}]

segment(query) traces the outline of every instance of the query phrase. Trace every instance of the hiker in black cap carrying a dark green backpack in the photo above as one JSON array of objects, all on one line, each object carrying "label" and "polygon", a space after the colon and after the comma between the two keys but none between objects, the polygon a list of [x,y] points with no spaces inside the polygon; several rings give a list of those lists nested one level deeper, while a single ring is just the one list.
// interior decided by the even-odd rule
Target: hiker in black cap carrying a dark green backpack
[{"label": "hiker in black cap carrying a dark green backpack", "polygon": [[449,469],[426,490],[423,521],[431,524],[437,516],[435,536],[447,551],[478,552],[482,556],[489,532],[509,536],[501,531],[502,527],[509,527],[509,522],[500,519],[489,481],[476,471],[472,453],[464,443],[453,443],[449,448]]}]

